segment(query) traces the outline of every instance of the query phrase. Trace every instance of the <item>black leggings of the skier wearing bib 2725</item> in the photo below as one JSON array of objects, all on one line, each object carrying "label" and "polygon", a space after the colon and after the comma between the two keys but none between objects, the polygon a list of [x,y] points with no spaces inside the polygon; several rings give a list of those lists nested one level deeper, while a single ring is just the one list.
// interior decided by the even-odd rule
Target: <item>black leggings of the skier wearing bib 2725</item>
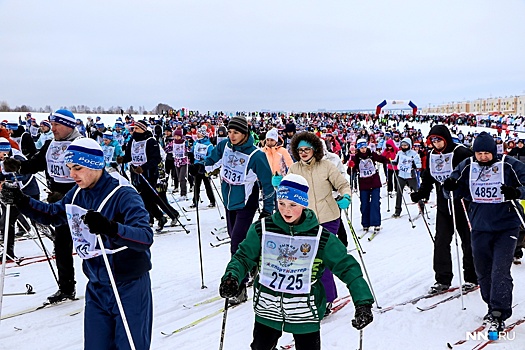
[{"label": "black leggings of the skier wearing bib 2725", "polygon": [[[277,347],[277,341],[283,332],[278,329],[265,326],[257,321],[253,326],[252,350],[273,350]],[[294,334],[295,349],[297,350],[321,350],[321,333],[319,331],[305,334]]]}]

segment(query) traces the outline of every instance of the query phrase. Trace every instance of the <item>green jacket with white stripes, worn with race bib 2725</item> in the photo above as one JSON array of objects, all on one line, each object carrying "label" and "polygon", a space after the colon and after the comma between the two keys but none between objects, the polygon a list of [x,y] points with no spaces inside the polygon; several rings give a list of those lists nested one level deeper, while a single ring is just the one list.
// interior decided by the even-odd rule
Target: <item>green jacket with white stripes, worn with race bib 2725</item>
[{"label": "green jacket with white stripes, worn with race bib 2725", "polygon": [[[326,294],[320,281],[325,267],[346,283],[354,305],[372,304],[374,302],[359,263],[353,256],[347,254],[346,247],[335,235],[320,228],[312,210],[304,210],[303,220],[298,225],[287,224],[278,211],[263,220],[265,220],[264,224],[257,221],[250,226],[246,239],[239,245],[239,249],[233,255],[222,278],[224,280],[231,273],[237,281],[241,281],[248,271],[259,264],[259,271],[261,272],[254,282],[253,298],[257,322],[294,334],[311,333],[319,330],[320,321],[326,311]],[[263,235],[263,226],[267,232],[266,240]],[[268,233],[277,239],[269,239]],[[306,239],[309,239],[310,242],[313,239],[316,243],[304,243],[305,237],[308,237]],[[279,240],[281,244],[279,244]],[[266,247],[271,246],[277,251],[281,248],[282,254],[278,255],[277,258],[274,255],[273,263],[268,259],[270,254],[266,253],[268,249],[263,247],[262,242],[266,242]],[[277,242],[277,248],[274,242]],[[291,242],[291,244],[283,242]],[[293,244],[294,242],[299,244]],[[263,258],[263,251],[265,251],[266,258]],[[289,275],[286,278],[281,278],[282,276],[278,272],[273,272],[275,278],[270,283],[266,282],[265,285],[261,283],[263,260],[265,260],[265,266],[268,266],[268,269],[275,268],[276,271],[286,273],[290,271],[293,273],[295,273],[294,271],[301,272],[302,269],[294,270],[294,262],[300,261],[310,252],[313,252],[312,259],[310,259],[313,264],[309,268],[311,271],[309,293],[297,294],[297,291],[293,291],[294,288],[302,287],[304,283],[309,283],[309,281],[300,280],[300,277],[294,279],[294,276]],[[313,255],[314,253],[315,255]],[[310,272],[305,274],[310,275]],[[304,276],[303,274],[296,275]],[[279,286],[281,286],[281,291],[279,291]],[[292,293],[282,291],[287,288],[292,290]]]}]

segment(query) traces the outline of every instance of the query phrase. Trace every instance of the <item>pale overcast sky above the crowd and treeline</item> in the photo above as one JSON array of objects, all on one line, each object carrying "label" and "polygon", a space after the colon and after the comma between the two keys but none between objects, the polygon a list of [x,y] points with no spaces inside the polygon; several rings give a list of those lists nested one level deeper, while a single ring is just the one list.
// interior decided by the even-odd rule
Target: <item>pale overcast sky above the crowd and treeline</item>
[{"label": "pale overcast sky above the crowd and treeline", "polygon": [[0,101],[297,111],[520,95],[524,14],[522,0],[0,0]]}]

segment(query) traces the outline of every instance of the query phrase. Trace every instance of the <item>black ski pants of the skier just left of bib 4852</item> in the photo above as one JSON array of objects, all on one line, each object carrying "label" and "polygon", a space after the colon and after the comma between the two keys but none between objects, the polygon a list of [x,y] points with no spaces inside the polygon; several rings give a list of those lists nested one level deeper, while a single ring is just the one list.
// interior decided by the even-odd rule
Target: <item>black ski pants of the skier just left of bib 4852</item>
[{"label": "black ski pants of the skier just left of bib 4852", "polygon": [[[436,236],[434,243],[434,272],[436,282],[450,285],[452,283],[452,255],[451,245],[454,244],[454,222],[452,220],[451,208],[449,212],[449,200],[437,196]],[[465,202],[467,204],[467,202]],[[472,247],[470,244],[470,228],[463,210],[460,199],[454,200],[456,212],[456,225],[461,239],[463,249],[463,281],[478,284],[474,260],[472,258]],[[456,249],[454,247],[454,249]]]}]

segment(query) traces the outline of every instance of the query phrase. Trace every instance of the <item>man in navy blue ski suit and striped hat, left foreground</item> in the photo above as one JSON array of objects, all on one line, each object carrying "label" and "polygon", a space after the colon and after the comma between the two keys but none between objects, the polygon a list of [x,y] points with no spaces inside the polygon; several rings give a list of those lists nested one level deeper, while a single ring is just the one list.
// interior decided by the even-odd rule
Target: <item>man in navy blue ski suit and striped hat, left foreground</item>
[{"label": "man in navy blue ski suit and striped hat, left foreground", "polygon": [[104,170],[104,154],[96,141],[88,138],[73,141],[66,150],[65,163],[76,185],[58,202],[47,204],[32,199],[13,185],[3,186],[2,198],[6,204],[16,205],[22,213],[42,224],[70,225],[75,249],[84,258],[82,267],[89,280],[84,349],[129,349],[131,346],[103,257],[93,254],[93,250],[101,252],[100,247],[96,241],[80,244],[77,234],[82,232],[81,222],[74,220],[71,205],[87,210],[77,218],[89,232],[101,235],[106,251],[127,247],[107,256],[135,348],[149,349],[153,320],[149,276],[153,231],[144,203],[133,187],[121,185]]}]

